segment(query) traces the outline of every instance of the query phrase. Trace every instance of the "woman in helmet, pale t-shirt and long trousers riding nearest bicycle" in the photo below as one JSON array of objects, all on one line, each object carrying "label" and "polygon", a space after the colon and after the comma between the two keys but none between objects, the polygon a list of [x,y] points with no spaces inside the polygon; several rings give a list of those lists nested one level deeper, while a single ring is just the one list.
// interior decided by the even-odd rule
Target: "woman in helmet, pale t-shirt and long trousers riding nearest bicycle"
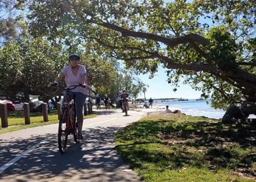
[{"label": "woman in helmet, pale t-shirt and long trousers riding nearest bicycle", "polygon": [[[84,121],[83,116],[83,107],[85,104],[85,99],[88,96],[88,89],[90,86],[86,83],[86,70],[85,67],[82,66],[80,63],[80,55],[77,53],[71,53],[69,55],[69,66],[66,66],[62,69],[59,73],[59,76],[55,78],[54,82],[60,83],[65,80],[67,87],[73,85],[82,84],[83,87],[76,87],[76,89],[71,90],[69,93],[71,95],[71,99],[74,97],[76,98],[76,115],[77,115],[77,127],[78,127],[78,139],[82,139],[82,126]],[[52,83],[54,84],[54,83]],[[65,95],[65,93],[64,93]],[[64,102],[64,99],[63,99]],[[62,107],[64,103],[62,103]]]}]

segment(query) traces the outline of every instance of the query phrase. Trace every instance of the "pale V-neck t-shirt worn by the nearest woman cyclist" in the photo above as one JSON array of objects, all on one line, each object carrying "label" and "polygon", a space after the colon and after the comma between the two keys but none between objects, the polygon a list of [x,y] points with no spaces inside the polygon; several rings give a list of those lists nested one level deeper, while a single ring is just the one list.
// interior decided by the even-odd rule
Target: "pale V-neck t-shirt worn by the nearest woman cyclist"
[{"label": "pale V-neck t-shirt worn by the nearest woman cyclist", "polygon": [[[82,75],[86,73],[85,67],[80,65],[77,71],[77,75],[74,75],[71,69],[72,67],[70,65],[62,69],[62,72],[65,74],[66,85],[69,87],[69,86],[84,84],[82,83]],[[76,87],[76,89],[71,91],[81,92],[81,93],[84,93],[84,95],[88,95],[88,89],[84,87]]]}]

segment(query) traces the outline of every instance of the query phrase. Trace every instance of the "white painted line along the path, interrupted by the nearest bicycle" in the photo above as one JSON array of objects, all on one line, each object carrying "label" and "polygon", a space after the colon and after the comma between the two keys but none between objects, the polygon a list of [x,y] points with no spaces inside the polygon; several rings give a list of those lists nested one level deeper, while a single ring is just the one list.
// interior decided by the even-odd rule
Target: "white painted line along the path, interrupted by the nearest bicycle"
[{"label": "white painted line along the path, interrupted by the nearest bicycle", "polygon": [[[115,120],[119,117],[116,117],[116,118],[112,118],[110,120],[105,120],[105,121],[100,121],[98,123],[105,123],[107,121],[111,121],[111,120]],[[92,123],[92,124],[87,124],[83,127],[86,127],[86,126],[91,126],[93,124],[98,124],[98,123]],[[21,153],[20,155],[16,156],[15,158],[13,158],[12,160],[10,160],[9,162],[7,162],[6,164],[4,164],[4,166],[1,166],[0,167],[0,174],[2,172],[4,172],[5,169],[7,169],[8,167],[12,166],[12,164],[16,163],[16,161],[20,160],[21,158],[24,157],[24,155],[26,155],[27,153],[31,152],[32,150],[34,150],[36,147],[40,146],[41,144],[45,143],[46,141],[41,141],[40,143],[37,143],[35,144],[34,146],[30,147],[29,149],[27,149],[25,152]]]}]

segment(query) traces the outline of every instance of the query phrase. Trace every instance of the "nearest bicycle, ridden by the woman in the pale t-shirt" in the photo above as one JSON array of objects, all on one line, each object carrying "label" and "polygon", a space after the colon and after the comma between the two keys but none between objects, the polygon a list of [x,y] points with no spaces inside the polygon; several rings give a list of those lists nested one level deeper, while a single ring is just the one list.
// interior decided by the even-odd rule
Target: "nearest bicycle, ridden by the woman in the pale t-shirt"
[{"label": "nearest bicycle, ridden by the woman in the pale t-shirt", "polygon": [[58,129],[58,146],[60,153],[66,152],[66,144],[68,143],[68,135],[73,134],[74,141],[77,143],[79,140],[77,138],[77,123],[76,123],[76,103],[75,98],[71,103],[71,96],[69,94],[70,90],[75,89],[76,87],[84,87],[82,84],[76,86],[62,87],[59,84],[55,83],[55,86],[60,87],[60,89],[66,91],[63,95],[64,106],[62,107],[62,113],[59,120],[59,129]]}]

